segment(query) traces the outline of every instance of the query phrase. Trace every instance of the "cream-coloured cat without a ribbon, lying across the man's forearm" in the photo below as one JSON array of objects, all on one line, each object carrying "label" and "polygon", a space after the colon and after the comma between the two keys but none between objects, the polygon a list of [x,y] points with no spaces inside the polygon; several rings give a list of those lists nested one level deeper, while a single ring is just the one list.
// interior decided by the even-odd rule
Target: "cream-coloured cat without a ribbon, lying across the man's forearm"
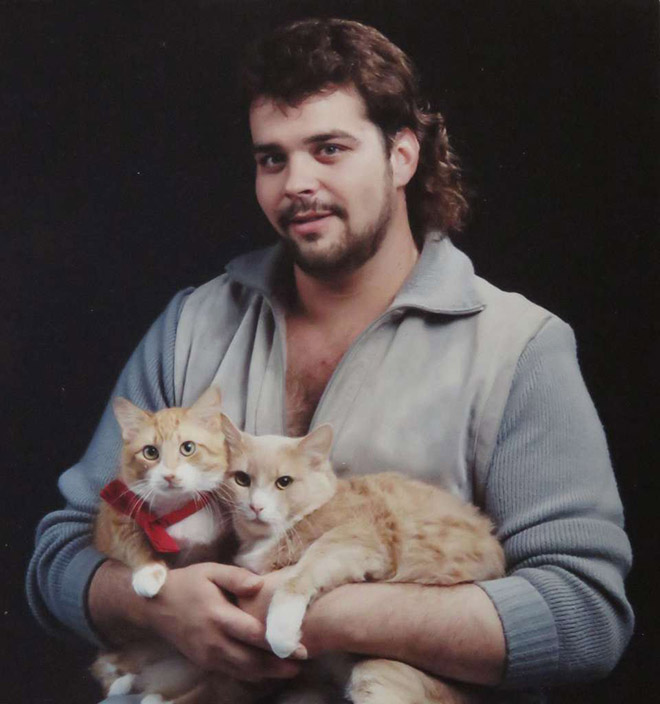
[{"label": "cream-coloured cat without a ribbon, lying across the man's forearm", "polygon": [[[223,416],[223,431],[240,543],[236,563],[260,574],[289,567],[266,621],[266,638],[280,657],[300,645],[308,606],[342,584],[446,586],[504,573],[492,525],[476,507],[391,473],[338,480],[329,462],[329,425],[304,438],[255,437]],[[480,701],[469,688],[373,659],[352,667],[346,694],[354,704]]]}]

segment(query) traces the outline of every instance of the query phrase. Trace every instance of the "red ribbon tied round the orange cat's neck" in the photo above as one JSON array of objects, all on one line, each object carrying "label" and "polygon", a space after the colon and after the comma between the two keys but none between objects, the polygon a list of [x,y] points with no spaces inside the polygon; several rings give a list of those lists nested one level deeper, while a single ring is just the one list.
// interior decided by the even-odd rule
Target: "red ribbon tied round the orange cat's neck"
[{"label": "red ribbon tied round the orange cat's neck", "polygon": [[191,499],[181,508],[170,511],[164,516],[157,516],[121,479],[115,479],[106,484],[101,489],[101,498],[119,513],[130,516],[144,530],[149,542],[157,552],[179,552],[181,548],[176,540],[169,535],[167,528],[184,518],[188,518],[188,516],[192,516],[193,513],[197,513],[209,502],[206,497]]}]

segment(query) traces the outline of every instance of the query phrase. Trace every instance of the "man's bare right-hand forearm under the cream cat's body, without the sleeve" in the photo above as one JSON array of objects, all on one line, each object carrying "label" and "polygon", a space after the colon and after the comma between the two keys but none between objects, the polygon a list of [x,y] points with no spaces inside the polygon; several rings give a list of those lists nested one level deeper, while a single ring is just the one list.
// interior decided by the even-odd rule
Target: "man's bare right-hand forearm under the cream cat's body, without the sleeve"
[{"label": "man's bare right-hand forearm under the cream cat's body, without the sleeve", "polygon": [[[261,620],[280,582],[274,572],[241,607]],[[402,660],[476,684],[498,684],[506,659],[502,624],[473,584],[347,584],[315,601],[303,625],[309,657],[340,651]]]}]

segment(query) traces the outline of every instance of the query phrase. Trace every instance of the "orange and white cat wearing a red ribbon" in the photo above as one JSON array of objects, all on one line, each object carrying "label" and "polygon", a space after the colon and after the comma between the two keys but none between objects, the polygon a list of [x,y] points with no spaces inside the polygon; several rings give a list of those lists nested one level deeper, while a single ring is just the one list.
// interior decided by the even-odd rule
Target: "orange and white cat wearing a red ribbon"
[{"label": "orange and white cat wearing a red ribbon", "polygon": [[[169,566],[218,557],[228,533],[218,495],[227,468],[220,392],[209,388],[189,408],[149,413],[123,398],[113,402],[124,446],[118,479],[104,487],[95,546],[133,570],[133,588],[155,596]],[[201,673],[171,646],[130,644],[92,667],[106,694],[153,693],[163,701],[196,684]]]}]

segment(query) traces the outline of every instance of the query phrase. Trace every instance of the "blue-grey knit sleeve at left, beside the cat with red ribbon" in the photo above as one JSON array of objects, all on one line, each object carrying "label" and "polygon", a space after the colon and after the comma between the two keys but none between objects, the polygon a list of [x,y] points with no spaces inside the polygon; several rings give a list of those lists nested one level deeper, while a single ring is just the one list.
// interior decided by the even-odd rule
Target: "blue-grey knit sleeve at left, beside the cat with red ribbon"
[{"label": "blue-grey knit sleeve at left, beside the cat with red ribbon", "polygon": [[[121,373],[111,398],[124,396],[156,410],[173,405],[174,343],[182,291],[151,326]],[[99,491],[117,473],[119,426],[108,403],[83,458],[59,479],[66,502],[39,524],[27,572],[27,596],[37,620],[49,631],[73,631],[100,645],[87,613],[87,589],[105,557],[91,544]]]}]

